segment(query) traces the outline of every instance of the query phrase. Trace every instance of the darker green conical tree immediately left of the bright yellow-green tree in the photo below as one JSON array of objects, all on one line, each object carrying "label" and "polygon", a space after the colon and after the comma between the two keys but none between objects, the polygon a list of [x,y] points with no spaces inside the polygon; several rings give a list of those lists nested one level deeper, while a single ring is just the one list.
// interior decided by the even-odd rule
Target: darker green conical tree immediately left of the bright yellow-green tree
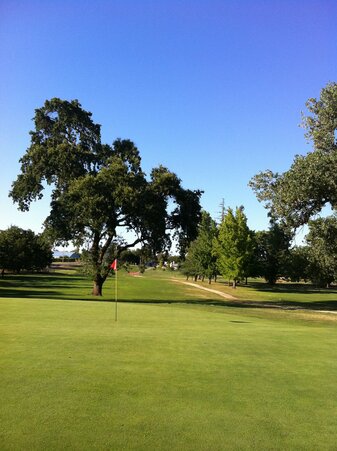
[{"label": "darker green conical tree immediately left of the bright yellow-green tree", "polygon": [[188,248],[183,272],[188,276],[207,277],[211,283],[216,276],[216,257],[214,255],[214,240],[217,236],[215,221],[206,211],[202,212],[198,236]]}]

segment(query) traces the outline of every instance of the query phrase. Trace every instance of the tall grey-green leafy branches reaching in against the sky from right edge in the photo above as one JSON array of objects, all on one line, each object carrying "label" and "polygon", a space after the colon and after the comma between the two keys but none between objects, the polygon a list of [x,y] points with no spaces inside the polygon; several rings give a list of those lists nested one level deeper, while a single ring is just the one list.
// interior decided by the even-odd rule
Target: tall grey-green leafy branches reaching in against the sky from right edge
[{"label": "tall grey-green leafy branches reaching in against the sky from right edge", "polygon": [[296,156],[283,174],[267,170],[250,181],[271,216],[295,228],[326,204],[337,209],[337,83],[329,83],[320,99],[309,99],[306,106],[309,115],[303,116],[302,124],[313,151]]}]

